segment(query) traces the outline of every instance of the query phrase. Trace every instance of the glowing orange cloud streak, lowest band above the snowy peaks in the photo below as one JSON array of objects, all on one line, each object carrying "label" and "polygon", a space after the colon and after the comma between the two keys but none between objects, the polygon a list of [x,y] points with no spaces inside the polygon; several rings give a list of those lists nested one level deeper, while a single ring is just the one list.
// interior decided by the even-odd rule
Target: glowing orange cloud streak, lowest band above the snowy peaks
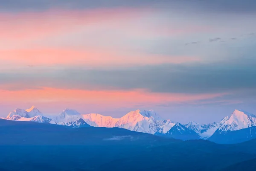
[{"label": "glowing orange cloud streak, lowest band above the snowy peaks", "polygon": [[112,105],[116,107],[145,104],[162,104],[168,102],[180,103],[221,97],[227,93],[215,94],[181,94],[181,93],[149,93],[144,90],[132,91],[90,91],[90,90],[69,90],[43,87],[40,90],[0,90],[2,101],[27,103],[79,103]]}]

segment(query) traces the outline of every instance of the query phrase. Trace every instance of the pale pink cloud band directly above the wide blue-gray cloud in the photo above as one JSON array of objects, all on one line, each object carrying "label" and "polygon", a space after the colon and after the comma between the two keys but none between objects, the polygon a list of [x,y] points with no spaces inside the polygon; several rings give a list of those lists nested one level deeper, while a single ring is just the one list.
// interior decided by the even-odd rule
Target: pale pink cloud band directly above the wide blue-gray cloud
[{"label": "pale pink cloud band directly above the wide blue-gray cloud", "polygon": [[16,49],[0,50],[2,69],[20,66],[129,66],[132,64],[180,64],[199,61],[199,58],[190,56],[164,56],[147,54],[121,54],[120,52],[108,52],[97,50],[74,49]]}]

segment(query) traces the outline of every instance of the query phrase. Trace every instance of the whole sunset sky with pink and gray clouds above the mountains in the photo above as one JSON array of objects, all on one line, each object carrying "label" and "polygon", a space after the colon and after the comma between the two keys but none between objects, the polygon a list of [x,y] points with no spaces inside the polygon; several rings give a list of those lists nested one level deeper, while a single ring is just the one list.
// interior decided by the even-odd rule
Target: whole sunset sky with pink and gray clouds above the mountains
[{"label": "whole sunset sky with pink and gray clouds above the mountains", "polygon": [[0,116],[256,114],[255,0],[0,0]]}]

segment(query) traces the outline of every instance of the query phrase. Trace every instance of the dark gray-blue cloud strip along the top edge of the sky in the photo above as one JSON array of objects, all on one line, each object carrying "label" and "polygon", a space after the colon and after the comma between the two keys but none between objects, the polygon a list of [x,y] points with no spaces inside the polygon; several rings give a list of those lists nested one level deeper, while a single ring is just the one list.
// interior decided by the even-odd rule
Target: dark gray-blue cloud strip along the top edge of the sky
[{"label": "dark gray-blue cloud strip along the top edge of the sky", "polygon": [[115,6],[157,6],[164,8],[186,8],[200,10],[203,12],[233,12],[233,13],[251,13],[256,12],[255,0],[0,0],[0,11],[24,11],[24,10],[45,10],[51,8],[105,8]]}]

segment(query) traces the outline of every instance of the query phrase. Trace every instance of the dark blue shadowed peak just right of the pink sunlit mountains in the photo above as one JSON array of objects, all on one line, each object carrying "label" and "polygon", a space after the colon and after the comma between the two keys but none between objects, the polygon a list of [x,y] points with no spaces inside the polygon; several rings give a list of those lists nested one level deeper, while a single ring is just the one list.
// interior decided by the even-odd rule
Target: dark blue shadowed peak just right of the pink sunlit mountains
[{"label": "dark blue shadowed peak just right of the pink sunlit mountains", "polygon": [[155,135],[172,137],[174,139],[189,140],[189,139],[200,139],[201,137],[194,131],[189,128],[186,128],[184,125],[177,123],[172,127],[167,133],[155,133]]}]

